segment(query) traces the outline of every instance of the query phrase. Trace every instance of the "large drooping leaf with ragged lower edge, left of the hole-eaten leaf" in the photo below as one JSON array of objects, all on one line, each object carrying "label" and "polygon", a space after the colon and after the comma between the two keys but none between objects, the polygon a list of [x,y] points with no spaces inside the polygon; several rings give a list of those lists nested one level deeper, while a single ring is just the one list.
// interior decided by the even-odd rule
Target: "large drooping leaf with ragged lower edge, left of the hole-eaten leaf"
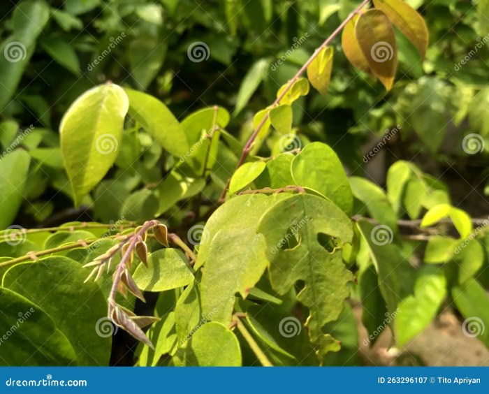
[{"label": "large drooping leaf with ragged lower edge, left of the hole-eaten leaf", "polygon": [[246,298],[263,275],[268,260],[263,237],[256,235],[256,228],[261,214],[285,197],[285,193],[236,196],[207,221],[196,269],[204,265],[202,309],[212,321],[231,323],[235,293]]}]

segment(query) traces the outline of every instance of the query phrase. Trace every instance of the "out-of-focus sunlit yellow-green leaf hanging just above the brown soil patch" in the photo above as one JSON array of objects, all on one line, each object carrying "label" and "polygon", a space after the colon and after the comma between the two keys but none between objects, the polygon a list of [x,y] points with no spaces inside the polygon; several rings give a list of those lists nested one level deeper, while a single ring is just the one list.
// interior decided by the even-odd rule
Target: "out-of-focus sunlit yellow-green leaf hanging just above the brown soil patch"
[{"label": "out-of-focus sunlit yellow-green leaf hanging just above the brown soil patch", "polygon": [[435,319],[446,296],[444,271],[426,266],[418,272],[414,296],[399,302],[394,326],[397,342],[402,346],[420,334]]}]

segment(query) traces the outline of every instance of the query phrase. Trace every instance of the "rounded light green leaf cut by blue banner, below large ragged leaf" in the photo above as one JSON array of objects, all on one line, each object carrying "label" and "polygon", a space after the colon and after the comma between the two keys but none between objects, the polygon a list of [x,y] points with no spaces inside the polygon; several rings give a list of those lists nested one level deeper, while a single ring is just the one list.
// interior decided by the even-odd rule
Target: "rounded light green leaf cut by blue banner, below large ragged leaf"
[{"label": "rounded light green leaf cut by blue banner, below large ragged leaf", "polygon": [[210,322],[192,335],[187,349],[179,349],[175,358],[175,365],[240,367],[241,349],[238,338],[231,330],[221,323]]}]

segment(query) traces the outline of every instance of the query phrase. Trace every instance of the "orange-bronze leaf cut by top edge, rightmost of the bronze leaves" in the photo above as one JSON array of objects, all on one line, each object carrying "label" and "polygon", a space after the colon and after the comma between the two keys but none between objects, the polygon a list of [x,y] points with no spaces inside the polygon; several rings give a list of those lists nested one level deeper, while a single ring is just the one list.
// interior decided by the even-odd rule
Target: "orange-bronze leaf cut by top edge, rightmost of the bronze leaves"
[{"label": "orange-bronze leaf cut by top edge, rightmost of the bronze leaves", "polygon": [[374,0],[374,6],[387,15],[395,27],[413,43],[421,59],[425,59],[428,29],[418,11],[402,0]]}]

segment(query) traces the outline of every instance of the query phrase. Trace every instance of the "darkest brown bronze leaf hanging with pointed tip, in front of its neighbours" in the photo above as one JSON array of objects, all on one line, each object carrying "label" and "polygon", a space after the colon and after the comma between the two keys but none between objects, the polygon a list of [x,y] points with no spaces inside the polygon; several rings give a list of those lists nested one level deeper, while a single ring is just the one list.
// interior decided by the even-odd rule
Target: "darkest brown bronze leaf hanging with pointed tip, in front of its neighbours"
[{"label": "darkest brown bronze leaf hanging with pointed tip, in front of its neighbours", "polygon": [[368,10],[358,17],[355,36],[372,73],[390,90],[397,70],[397,45],[391,21],[381,10]]}]

